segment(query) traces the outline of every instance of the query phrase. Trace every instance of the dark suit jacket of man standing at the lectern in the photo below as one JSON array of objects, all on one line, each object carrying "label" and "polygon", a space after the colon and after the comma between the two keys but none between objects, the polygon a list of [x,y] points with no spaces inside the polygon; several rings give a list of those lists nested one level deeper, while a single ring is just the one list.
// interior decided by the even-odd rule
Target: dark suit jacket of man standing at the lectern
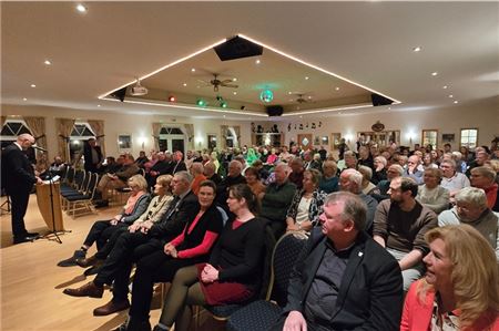
[{"label": "dark suit jacket of man standing at the lectern", "polygon": [[28,156],[16,144],[2,151],[2,187],[10,195],[29,194],[37,183],[34,169]]}]

